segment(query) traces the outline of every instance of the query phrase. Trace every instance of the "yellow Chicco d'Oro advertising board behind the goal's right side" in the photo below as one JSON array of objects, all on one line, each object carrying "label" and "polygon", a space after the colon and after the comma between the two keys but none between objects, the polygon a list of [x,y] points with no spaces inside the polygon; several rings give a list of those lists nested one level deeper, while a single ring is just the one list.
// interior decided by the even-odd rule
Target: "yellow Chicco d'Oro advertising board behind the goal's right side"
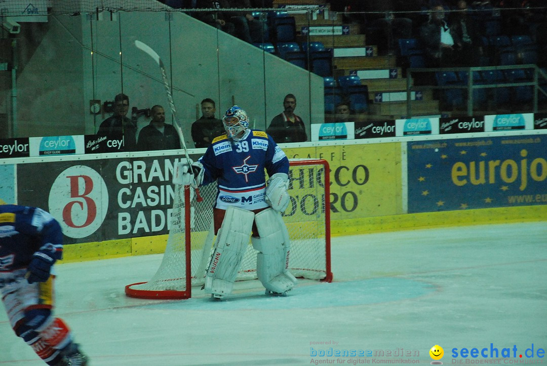
[{"label": "yellow Chicco d'Oro advertising board behind the goal's right side", "polygon": [[[351,233],[359,225],[359,219],[404,213],[399,142],[283,150],[289,159],[328,161],[333,233]],[[292,180],[289,192],[298,196],[298,177]]]}]

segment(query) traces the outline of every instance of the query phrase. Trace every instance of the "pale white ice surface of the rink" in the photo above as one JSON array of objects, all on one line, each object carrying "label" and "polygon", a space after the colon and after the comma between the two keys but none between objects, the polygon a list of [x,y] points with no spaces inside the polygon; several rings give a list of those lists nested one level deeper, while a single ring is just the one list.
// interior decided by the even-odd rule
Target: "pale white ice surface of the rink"
[{"label": "pale white ice surface of the rink", "polygon": [[[143,255],[57,266],[56,315],[73,329],[90,365],[400,359],[311,356],[311,348],[330,347],[417,350],[418,357],[403,358],[429,364],[434,345],[451,364],[452,348],[547,349],[545,222],[335,237],[334,282],[299,280],[288,297],[266,297],[255,280],[236,283],[222,302],[199,288],[189,300],[127,298],[124,286],[147,281],[160,261]],[[43,364],[3,311],[0,339],[0,365]]]}]

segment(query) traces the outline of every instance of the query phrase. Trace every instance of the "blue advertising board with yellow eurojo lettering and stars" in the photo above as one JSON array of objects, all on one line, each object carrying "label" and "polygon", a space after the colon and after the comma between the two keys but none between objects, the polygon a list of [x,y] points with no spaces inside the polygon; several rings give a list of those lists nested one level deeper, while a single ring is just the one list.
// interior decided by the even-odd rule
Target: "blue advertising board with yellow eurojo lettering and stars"
[{"label": "blue advertising board with yellow eurojo lettering and stars", "polygon": [[408,211],[547,204],[547,136],[408,142]]}]

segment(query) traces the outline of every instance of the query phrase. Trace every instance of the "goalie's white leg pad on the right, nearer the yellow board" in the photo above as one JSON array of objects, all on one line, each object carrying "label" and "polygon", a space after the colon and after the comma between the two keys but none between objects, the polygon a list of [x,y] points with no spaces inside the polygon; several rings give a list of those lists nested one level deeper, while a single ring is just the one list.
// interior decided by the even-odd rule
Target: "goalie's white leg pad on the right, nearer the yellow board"
[{"label": "goalie's white leg pad on the right, nearer the yellow board", "polygon": [[296,278],[289,272],[290,240],[281,213],[272,208],[254,217],[260,237],[252,237],[257,254],[257,275],[266,290],[284,293],[294,287]]}]

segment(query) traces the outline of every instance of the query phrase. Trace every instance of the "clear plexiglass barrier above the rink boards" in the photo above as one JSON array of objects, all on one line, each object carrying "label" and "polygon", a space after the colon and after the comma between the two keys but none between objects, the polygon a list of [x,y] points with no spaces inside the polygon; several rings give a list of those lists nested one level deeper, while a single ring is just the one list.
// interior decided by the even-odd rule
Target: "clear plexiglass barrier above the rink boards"
[{"label": "clear plexiglass barrier above the rink boards", "polygon": [[[160,139],[137,148],[161,109],[175,123],[165,81],[188,148],[221,133],[218,119],[234,104],[254,129],[282,120],[290,127],[275,140],[287,143],[311,141],[311,125],[324,122],[537,112],[547,101],[547,8],[126,3],[53,2],[42,13],[4,13],[0,138],[113,133],[125,146],[97,152],[170,147]],[[165,80],[136,41],[159,55]],[[204,113],[209,119],[193,134]],[[290,132],[293,115],[305,135]],[[100,140],[87,137],[86,146]]]}]

